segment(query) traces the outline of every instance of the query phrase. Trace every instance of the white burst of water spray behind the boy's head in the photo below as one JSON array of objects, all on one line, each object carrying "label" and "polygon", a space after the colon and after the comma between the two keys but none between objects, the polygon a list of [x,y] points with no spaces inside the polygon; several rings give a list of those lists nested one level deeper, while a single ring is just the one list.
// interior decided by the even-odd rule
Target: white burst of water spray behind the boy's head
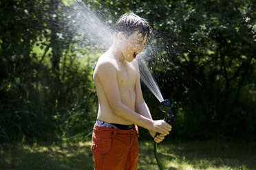
[{"label": "white burst of water spray behind the boy's head", "polygon": [[[74,41],[82,47],[96,45],[102,51],[107,50],[113,43],[114,34],[104,22],[100,12],[95,12],[83,1],[72,1],[61,11],[67,32],[74,34]],[[110,22],[110,21],[108,21]]]}]

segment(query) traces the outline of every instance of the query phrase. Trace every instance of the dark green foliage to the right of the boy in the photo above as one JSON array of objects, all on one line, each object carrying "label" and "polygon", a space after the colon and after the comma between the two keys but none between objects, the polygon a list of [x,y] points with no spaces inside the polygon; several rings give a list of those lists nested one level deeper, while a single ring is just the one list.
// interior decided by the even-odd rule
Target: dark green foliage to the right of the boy
[{"label": "dark green foliage to the right of the boy", "polygon": [[[143,9],[143,3],[136,5],[131,10]],[[158,1],[147,8],[136,12],[158,34],[152,40],[158,56],[149,66],[173,103],[174,135],[254,140],[255,3]]]}]

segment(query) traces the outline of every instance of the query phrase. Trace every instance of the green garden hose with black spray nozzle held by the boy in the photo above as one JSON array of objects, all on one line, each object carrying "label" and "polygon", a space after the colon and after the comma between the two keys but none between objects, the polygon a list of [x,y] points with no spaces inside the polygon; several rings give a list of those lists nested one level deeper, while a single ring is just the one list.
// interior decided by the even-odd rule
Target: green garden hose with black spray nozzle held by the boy
[{"label": "green garden hose with black spray nozzle held by the boy", "polygon": [[[160,102],[159,108],[160,108],[160,110],[162,110],[162,112],[164,112],[164,121],[169,123],[169,125],[173,125],[174,121],[175,121],[175,117],[174,117],[173,112],[171,111],[171,104],[170,104],[169,100],[165,99],[164,101]],[[156,133],[156,136],[159,134],[160,133]],[[162,170],[162,165],[161,165],[159,157],[158,157],[158,152],[157,152],[156,146],[157,146],[157,143],[156,143],[156,141],[154,141],[153,151],[154,151],[154,154],[156,157],[156,162],[158,163],[159,169]]]}]

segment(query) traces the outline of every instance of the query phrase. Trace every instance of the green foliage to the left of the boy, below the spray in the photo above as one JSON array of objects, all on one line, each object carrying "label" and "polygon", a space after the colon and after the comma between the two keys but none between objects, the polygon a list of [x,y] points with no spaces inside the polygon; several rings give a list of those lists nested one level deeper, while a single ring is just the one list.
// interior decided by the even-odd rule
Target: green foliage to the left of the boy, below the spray
[{"label": "green foliage to the left of the boy, below the spray", "polygon": [[[74,35],[56,37],[61,29],[50,16],[59,3],[0,4],[0,142],[54,141],[92,130],[96,93],[91,58],[98,52],[75,51],[67,37]],[[87,55],[83,65],[78,52]]]}]

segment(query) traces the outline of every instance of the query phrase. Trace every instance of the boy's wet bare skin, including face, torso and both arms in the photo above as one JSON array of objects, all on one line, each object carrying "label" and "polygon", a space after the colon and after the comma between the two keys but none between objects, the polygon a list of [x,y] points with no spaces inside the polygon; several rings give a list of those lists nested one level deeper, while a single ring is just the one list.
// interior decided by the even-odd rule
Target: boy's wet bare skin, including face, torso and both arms
[{"label": "boy's wet bare skin, including face, torso and both arms", "polygon": [[98,119],[123,125],[136,124],[149,130],[156,142],[171,131],[165,121],[153,121],[142,96],[140,73],[134,60],[147,43],[147,34],[138,31],[127,37],[117,34],[114,44],[98,59],[94,82],[98,95]]}]

